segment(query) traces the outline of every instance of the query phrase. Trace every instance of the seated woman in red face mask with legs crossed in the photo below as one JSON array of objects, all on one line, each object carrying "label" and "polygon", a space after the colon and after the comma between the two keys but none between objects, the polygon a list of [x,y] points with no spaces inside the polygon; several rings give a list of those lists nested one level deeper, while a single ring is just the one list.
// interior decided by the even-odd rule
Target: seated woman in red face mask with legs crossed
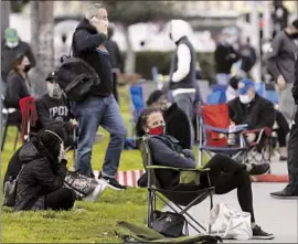
[{"label": "seated woman in red face mask with legs crossed", "polygon": [[[194,155],[189,149],[182,149],[177,139],[166,134],[164,119],[159,109],[148,108],[140,115],[137,125],[137,137],[150,136],[148,139],[152,163],[157,166],[194,169]],[[237,189],[238,203],[243,211],[252,214],[252,230],[255,238],[274,238],[273,234],[264,232],[255,223],[253,193],[249,174],[263,174],[269,169],[268,163],[241,165],[233,159],[215,155],[204,166],[209,168],[211,187],[215,187],[216,194],[225,194]],[[174,170],[156,170],[156,176],[162,189],[191,191],[193,188],[210,187],[206,173],[202,172],[200,185],[179,184],[180,174]],[[146,185],[146,180],[140,182]]]}]

